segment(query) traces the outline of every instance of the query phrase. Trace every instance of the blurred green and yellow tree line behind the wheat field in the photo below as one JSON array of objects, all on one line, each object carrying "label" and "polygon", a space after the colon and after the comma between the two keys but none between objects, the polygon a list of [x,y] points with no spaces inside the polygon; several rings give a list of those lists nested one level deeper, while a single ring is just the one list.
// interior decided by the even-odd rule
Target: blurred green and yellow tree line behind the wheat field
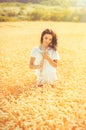
[{"label": "blurred green and yellow tree line behind the wheat field", "polygon": [[86,22],[86,8],[76,7],[76,1],[0,0],[0,21]]}]

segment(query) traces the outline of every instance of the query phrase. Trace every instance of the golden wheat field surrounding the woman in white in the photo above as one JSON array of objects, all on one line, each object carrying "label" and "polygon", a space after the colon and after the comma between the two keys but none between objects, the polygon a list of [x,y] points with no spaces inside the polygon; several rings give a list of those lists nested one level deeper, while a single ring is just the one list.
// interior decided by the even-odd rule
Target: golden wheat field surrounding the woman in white
[{"label": "golden wheat field surrounding the woman in white", "polygon": [[[58,36],[55,88],[29,68],[46,28]],[[0,130],[86,130],[86,23],[0,23]]]}]

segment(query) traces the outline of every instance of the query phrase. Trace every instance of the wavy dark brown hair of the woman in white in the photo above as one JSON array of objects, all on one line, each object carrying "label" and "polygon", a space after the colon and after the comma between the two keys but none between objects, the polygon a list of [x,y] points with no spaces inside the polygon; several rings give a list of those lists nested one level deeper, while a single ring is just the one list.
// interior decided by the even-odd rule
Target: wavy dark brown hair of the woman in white
[{"label": "wavy dark brown hair of the woman in white", "polygon": [[45,29],[41,34],[41,39],[40,39],[41,44],[43,42],[43,37],[44,37],[45,34],[51,34],[52,35],[52,43],[49,45],[49,47],[54,49],[54,50],[57,50],[58,42],[57,42],[56,33],[54,33],[51,29]]}]

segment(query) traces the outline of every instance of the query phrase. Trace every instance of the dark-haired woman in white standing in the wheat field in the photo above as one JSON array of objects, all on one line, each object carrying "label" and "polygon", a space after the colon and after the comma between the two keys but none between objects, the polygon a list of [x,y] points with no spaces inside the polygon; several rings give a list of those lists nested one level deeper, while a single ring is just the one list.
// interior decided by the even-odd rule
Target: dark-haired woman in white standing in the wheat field
[{"label": "dark-haired woman in white standing in the wheat field", "polygon": [[54,84],[58,60],[57,36],[52,30],[45,29],[41,34],[40,45],[32,49],[30,58],[30,68],[36,69],[38,86]]}]

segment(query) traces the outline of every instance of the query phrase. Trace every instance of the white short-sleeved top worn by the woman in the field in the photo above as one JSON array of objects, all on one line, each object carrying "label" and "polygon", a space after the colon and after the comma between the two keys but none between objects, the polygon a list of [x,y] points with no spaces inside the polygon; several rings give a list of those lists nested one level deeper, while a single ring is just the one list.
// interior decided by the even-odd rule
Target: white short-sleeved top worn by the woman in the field
[{"label": "white short-sleeved top worn by the woman in the field", "polygon": [[[35,57],[35,65],[40,65],[40,62],[43,58],[41,53],[43,53],[43,51],[39,47],[32,49],[31,56]],[[60,59],[58,52],[52,48],[48,49],[47,53],[52,60]],[[36,69],[36,76],[38,83],[53,83],[58,79],[56,74],[56,67],[53,67],[46,59],[44,59],[42,71],[40,71],[40,69]]]}]

